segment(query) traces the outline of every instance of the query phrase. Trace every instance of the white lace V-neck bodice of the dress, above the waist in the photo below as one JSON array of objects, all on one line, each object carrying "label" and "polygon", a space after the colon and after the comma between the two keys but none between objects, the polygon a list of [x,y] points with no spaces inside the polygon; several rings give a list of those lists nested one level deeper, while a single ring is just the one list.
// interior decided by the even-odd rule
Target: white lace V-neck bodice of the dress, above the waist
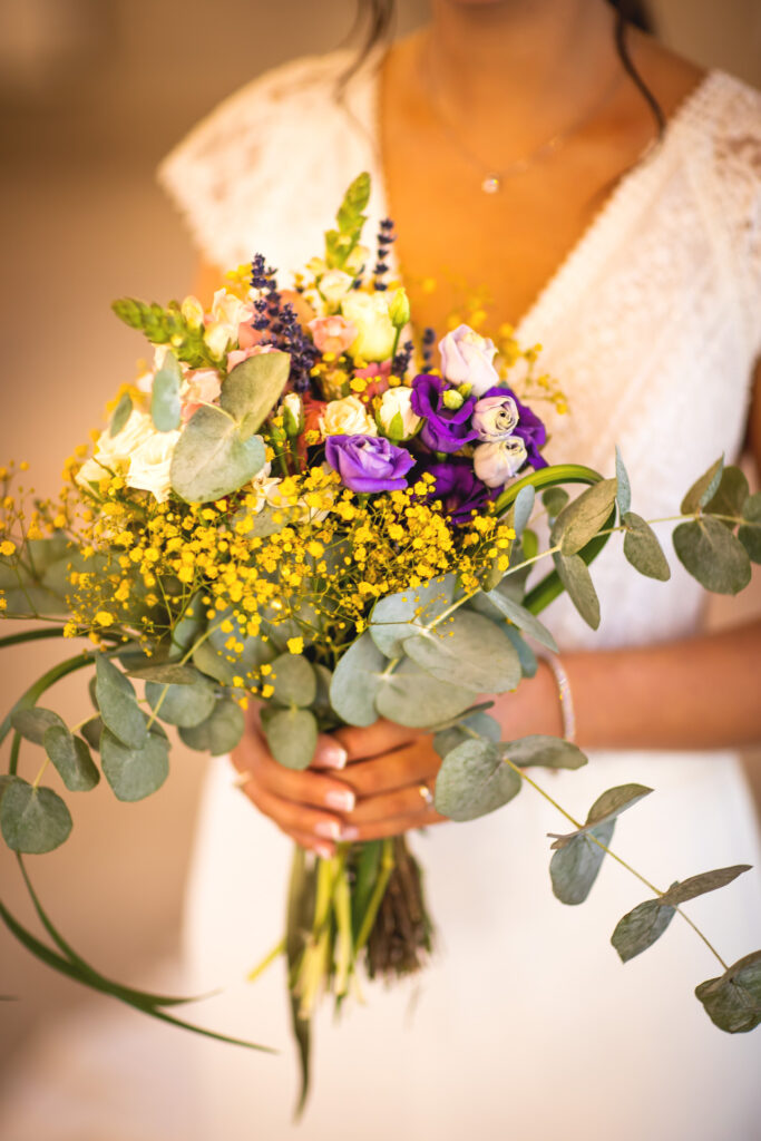
[{"label": "white lace V-neck bodice of the dress, above the waist", "polygon": [[[288,280],[322,248],[353,177],[373,178],[369,233],[386,216],[377,79],[364,68],[342,102],[345,52],[299,59],[225,100],[164,160],[159,177],[205,259],[261,251]],[[282,280],[282,278],[281,278]],[[548,414],[548,459],[613,469],[622,450],[646,518],[673,515],[722,452],[737,458],[761,353],[761,95],[712,71],[663,143],[623,177],[520,322],[540,341],[570,413]],[[667,528],[663,535],[670,549]],[[625,566],[615,537],[594,565],[593,634],[567,599],[552,607],[561,646],[677,637],[699,622],[701,588],[669,550],[669,583]]]}]

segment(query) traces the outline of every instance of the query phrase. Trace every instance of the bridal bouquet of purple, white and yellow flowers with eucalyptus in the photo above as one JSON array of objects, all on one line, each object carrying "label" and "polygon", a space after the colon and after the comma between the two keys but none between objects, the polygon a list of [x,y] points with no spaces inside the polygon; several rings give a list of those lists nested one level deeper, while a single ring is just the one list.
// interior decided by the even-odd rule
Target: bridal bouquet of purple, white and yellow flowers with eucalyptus
[{"label": "bridal bouquet of purple, white and yellow flowers with eucalyptus", "polygon": [[[70,461],[59,502],[25,513],[10,494],[14,470],[2,472],[0,606],[37,624],[0,645],[62,634],[89,645],[40,678],[0,727],[1,739],[11,736],[0,827],[52,946],[1,904],[0,915],[70,977],[204,1034],[169,1012],[191,1000],[107,979],[54,926],[24,857],[60,845],[72,817],[43,778],[55,771],[52,783],[75,793],[103,774],[120,800],[139,800],[168,775],[167,727],[192,748],[226,753],[253,699],[273,755],[292,769],[310,763],[318,733],[383,717],[435,734],[435,804],[453,820],[500,808],[524,784],[547,795],[528,770],[578,768],[583,753],[552,737],[501,741],[483,695],[531,677],[534,647],[557,649],[537,614],[562,590],[597,626],[589,566],[612,535],[635,570],[670,574],[631,509],[620,455],[613,478],[548,467],[532,404],[560,397],[535,375],[535,350],[460,325],[435,362],[430,333],[416,347],[406,339],[407,298],[386,261],[391,224],[373,268],[361,245],[369,193],[361,176],[323,256],[291,291],[257,256],[228,275],[210,311],[192,297],[115,302],[151,342],[153,366],[120,391],[92,455]],[[573,484],[586,485],[575,499]],[[532,526],[540,513],[543,551]],[[742,590],[751,560],[761,561],[761,496],[742,474],[717,462],[675,518],[688,570],[709,590]],[[545,558],[552,569],[536,582]],[[94,709],[67,726],[40,701],[76,670],[91,672]],[[19,772],[23,744],[42,750],[32,779]],[[617,816],[650,792],[628,784],[604,792],[585,820],[564,812],[572,831],[554,837],[550,863],[562,903],[586,898]],[[643,881],[648,898],[613,932],[621,958],[654,944],[685,901],[745,869],[702,872],[665,891]],[[340,1004],[361,968],[418,970],[432,928],[404,836],[341,843],[324,858],[297,847],[288,916],[268,961],[288,957],[303,1094],[321,993]],[[720,962],[697,996],[722,1029],[750,1030],[761,1021],[761,952]]]}]

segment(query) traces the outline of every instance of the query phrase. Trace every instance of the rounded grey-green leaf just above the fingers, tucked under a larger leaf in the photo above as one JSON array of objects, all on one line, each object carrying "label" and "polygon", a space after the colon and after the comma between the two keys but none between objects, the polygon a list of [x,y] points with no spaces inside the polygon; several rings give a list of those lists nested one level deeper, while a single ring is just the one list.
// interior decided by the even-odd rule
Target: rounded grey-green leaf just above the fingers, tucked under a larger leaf
[{"label": "rounded grey-green leaf just above the fingers, tucked under a larger leaf", "polygon": [[439,681],[410,658],[404,658],[394,673],[384,674],[379,682],[375,696],[378,713],[411,729],[438,725],[462,713],[473,701],[472,689]]}]

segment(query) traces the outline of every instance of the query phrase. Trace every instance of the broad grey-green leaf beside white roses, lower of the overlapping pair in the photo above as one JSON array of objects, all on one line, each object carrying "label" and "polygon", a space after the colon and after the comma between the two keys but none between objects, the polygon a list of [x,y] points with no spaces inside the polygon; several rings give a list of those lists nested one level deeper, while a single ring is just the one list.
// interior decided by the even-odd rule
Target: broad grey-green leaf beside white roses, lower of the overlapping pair
[{"label": "broad grey-green leaf beside white roses, lower of the overlapping pair", "polygon": [[244,438],[237,422],[226,412],[202,405],[186,423],[175,447],[172,489],[187,503],[208,503],[248,484],[261,471],[265,459],[259,436]]}]

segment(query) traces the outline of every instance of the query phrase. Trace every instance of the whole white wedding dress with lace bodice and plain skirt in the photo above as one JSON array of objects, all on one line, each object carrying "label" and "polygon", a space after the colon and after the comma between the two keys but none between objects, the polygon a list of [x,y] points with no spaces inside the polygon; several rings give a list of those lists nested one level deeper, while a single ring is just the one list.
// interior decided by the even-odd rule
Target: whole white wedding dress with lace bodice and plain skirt
[{"label": "whole white wedding dress with lace bodice and plain skirt", "polygon": [[[365,71],[337,103],[345,63],[298,60],[254,81],[163,163],[161,180],[208,261],[227,268],[261,251],[286,278],[321,250],[361,170],[373,176],[374,234],[387,209],[377,83]],[[570,415],[551,418],[550,461],[610,472],[617,443],[635,510],[673,513],[717,456],[738,455],[760,310],[761,96],[713,71],[520,323],[520,341],[544,345],[572,405]],[[641,645],[698,628],[703,593],[671,563],[670,582],[642,578],[612,542],[594,565],[600,630],[561,599],[547,614],[560,646]],[[674,921],[655,948],[622,965],[610,932],[647,891],[608,861],[586,904],[560,905],[547,833],[564,822],[531,788],[485,819],[414,839],[439,930],[434,961],[406,985],[366,986],[366,1005],[340,1023],[322,1012],[311,1101],[292,1126],[284,970],[278,963],[256,985],[243,981],[281,934],[290,842],[232,776],[227,760],[214,762],[187,900],[195,986],[227,989],[194,1014],[281,1053],[200,1046],[201,1136],[759,1136],[761,1030],[722,1034],[693,995],[720,973],[718,963]],[[544,778],[576,814],[631,780],[656,792],[620,822],[616,849],[658,884],[759,864],[751,801],[728,752],[600,752],[578,772]],[[760,882],[754,869],[689,905],[729,962],[761,946]]]}]

